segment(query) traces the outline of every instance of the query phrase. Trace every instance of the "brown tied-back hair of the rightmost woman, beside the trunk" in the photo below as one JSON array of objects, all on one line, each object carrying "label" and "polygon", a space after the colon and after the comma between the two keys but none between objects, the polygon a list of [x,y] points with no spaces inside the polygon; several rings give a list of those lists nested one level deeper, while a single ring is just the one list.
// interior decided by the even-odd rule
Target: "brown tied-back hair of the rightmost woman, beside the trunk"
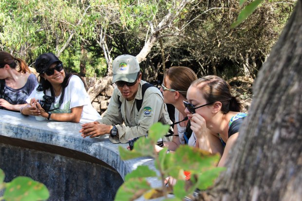
[{"label": "brown tied-back hair of the rightmost woman, beside the trunk", "polygon": [[220,101],[222,103],[221,111],[224,114],[229,111],[242,111],[242,103],[231,95],[229,84],[216,75],[199,78],[191,86],[197,87],[200,90],[207,103]]}]

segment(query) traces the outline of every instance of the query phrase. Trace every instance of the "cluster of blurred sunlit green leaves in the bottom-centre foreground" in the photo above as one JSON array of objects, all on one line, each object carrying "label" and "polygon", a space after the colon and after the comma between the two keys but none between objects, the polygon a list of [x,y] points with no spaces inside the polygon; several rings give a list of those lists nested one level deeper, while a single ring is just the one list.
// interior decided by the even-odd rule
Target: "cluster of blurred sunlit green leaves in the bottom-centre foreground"
[{"label": "cluster of blurred sunlit green leaves in the bottom-centre foreground", "polygon": [[[175,196],[173,200],[179,201],[193,193],[196,188],[203,190],[213,185],[215,179],[225,168],[216,166],[220,159],[218,154],[212,155],[207,151],[191,146],[179,146],[174,153],[170,154],[166,154],[167,148],[164,148],[158,154],[154,154],[154,145],[157,139],[164,136],[168,128],[169,126],[160,123],[154,124],[149,130],[148,138],[141,137],[135,141],[132,151],[120,147],[120,156],[123,160],[140,156],[153,156],[155,167],[161,172],[161,179],[165,179],[167,176],[176,179],[176,184],[173,186]],[[190,177],[186,178],[188,175]],[[124,196],[125,200],[132,200],[143,194],[145,199],[164,196],[168,189],[164,191],[147,187],[144,178],[154,176],[156,176],[156,172],[150,170],[149,167],[138,166],[136,170],[126,176],[126,182],[118,190],[116,198],[122,199]]]}]

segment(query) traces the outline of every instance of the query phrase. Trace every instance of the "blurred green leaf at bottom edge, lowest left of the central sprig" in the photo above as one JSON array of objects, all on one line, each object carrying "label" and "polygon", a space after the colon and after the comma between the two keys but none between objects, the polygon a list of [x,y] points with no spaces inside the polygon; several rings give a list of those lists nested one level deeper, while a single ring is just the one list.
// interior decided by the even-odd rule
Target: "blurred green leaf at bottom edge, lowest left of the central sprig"
[{"label": "blurred green leaf at bottom edge, lowest left of the central sprig", "polygon": [[115,201],[132,201],[151,190],[145,178],[131,178],[123,183],[115,195]]}]

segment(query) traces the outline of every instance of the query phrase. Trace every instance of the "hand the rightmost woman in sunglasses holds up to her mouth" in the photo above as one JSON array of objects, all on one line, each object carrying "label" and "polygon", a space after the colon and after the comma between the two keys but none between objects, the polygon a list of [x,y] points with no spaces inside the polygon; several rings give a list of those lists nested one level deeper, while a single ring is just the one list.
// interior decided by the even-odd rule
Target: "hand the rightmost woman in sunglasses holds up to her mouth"
[{"label": "hand the rightmost woman in sunglasses holds up to her mouth", "polygon": [[191,129],[197,139],[204,138],[207,135],[206,120],[200,114],[193,114],[191,118]]}]

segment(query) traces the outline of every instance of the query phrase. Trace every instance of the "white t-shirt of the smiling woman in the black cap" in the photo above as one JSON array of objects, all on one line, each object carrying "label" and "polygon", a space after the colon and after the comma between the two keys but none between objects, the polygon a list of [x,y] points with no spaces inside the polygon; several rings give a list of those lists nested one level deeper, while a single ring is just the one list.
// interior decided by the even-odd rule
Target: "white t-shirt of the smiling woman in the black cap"
[{"label": "white t-shirt of the smiling woman in the black cap", "polygon": [[[37,87],[38,85],[26,100],[27,103],[30,103],[30,100],[36,96]],[[46,95],[51,96],[50,89],[46,90]],[[61,95],[62,93],[55,98],[56,102],[52,104],[51,110],[59,107]],[[89,95],[85,90],[83,82],[78,76],[72,75],[69,79],[69,84],[65,88],[63,103],[59,109],[50,111],[50,113],[71,113],[72,108],[79,106],[84,106],[79,123],[84,124],[101,119],[100,114],[91,105]]]}]

